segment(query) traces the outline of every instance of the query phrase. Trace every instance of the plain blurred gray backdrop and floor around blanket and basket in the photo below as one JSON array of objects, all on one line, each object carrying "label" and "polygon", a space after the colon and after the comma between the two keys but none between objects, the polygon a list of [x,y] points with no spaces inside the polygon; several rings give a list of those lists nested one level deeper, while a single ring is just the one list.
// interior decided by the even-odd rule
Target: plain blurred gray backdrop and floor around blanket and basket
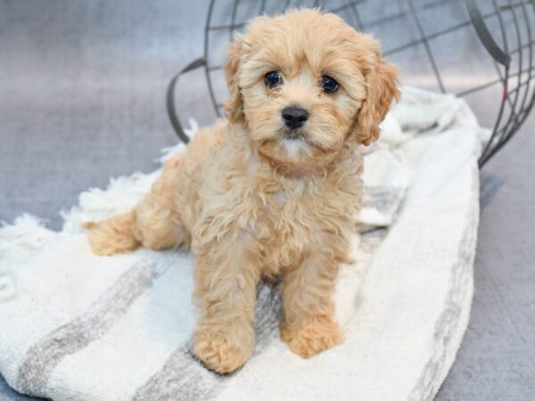
[{"label": "plain blurred gray backdrop and floor around blanket and basket", "polygon": [[[79,192],[155,167],[160,149],[177,142],[166,86],[202,55],[207,7],[207,0],[0,0],[0,220],[29,212],[59,229],[58,210]],[[391,23],[386,33],[405,29]],[[451,77],[477,80],[484,71],[470,73],[481,45],[458,44],[435,46],[438,57],[449,61]],[[394,61],[403,82],[430,86],[416,55]],[[202,74],[182,80],[179,93],[182,116],[214,118]],[[468,99],[483,123],[495,119],[499,95]],[[534,123],[532,113],[481,171],[473,311],[440,400],[535,399]],[[29,398],[0,378],[0,399]]]}]

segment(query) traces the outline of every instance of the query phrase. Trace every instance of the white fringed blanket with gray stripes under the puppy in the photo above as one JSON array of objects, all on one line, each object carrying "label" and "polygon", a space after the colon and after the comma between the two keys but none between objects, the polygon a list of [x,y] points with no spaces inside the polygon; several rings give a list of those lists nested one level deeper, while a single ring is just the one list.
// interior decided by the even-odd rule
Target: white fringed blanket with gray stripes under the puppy
[{"label": "white fringed blanket with gray stripes under the puppy", "polygon": [[82,193],[61,233],[20,217],[0,229],[0,372],[58,400],[431,399],[468,321],[482,132],[464,101],[406,88],[366,149],[356,263],[335,294],[345,342],[292,354],[262,284],[254,355],[226,376],[191,352],[193,256],[97,257],[80,228],[133,207],[158,172]]}]

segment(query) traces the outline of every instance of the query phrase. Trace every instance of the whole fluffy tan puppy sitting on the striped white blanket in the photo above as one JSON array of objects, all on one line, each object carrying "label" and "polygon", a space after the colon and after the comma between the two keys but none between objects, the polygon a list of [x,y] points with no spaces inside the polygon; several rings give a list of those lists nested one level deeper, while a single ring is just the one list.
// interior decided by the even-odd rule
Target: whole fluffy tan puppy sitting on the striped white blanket
[{"label": "whole fluffy tan puppy sitting on the striped white blanket", "polygon": [[169,160],[136,209],[89,233],[99,255],[191,246],[193,349],[216,372],[251,356],[263,275],[282,277],[280,333],[293,352],[342,342],[332,295],[360,204],[358,148],[399,97],[379,44],[316,10],[252,20],[225,72],[227,119]]}]

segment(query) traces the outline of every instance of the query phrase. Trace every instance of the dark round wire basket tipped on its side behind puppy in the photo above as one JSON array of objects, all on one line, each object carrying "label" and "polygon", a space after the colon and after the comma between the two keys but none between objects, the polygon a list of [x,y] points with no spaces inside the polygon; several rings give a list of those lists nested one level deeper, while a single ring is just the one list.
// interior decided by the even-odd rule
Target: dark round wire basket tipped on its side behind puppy
[{"label": "dark round wire basket tipped on its side behind puppy", "polygon": [[533,107],[534,0],[211,0],[204,55],[169,84],[169,118],[184,142],[188,137],[174,102],[180,74],[203,67],[213,108],[222,115],[227,96],[222,63],[234,31],[243,31],[256,15],[307,6],[334,12],[378,38],[404,85],[465,97],[481,124],[492,128],[480,167],[513,137]]}]

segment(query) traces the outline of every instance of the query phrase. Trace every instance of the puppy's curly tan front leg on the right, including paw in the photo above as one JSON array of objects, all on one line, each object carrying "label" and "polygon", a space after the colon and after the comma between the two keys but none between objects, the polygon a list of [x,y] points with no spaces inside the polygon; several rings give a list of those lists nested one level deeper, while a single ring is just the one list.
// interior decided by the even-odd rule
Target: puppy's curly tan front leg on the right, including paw
[{"label": "puppy's curly tan front leg on the right, including paw", "polygon": [[281,340],[304,358],[342,343],[332,300],[338,265],[324,244],[284,274]]}]

